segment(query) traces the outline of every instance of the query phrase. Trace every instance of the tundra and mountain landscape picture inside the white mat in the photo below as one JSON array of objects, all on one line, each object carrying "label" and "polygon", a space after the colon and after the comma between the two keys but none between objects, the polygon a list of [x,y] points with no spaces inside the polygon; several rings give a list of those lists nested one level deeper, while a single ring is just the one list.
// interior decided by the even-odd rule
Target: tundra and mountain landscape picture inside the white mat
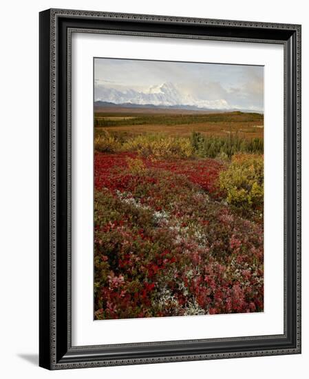
[{"label": "tundra and mountain landscape picture inside the white mat", "polygon": [[264,312],[264,66],[93,64],[94,320]]}]

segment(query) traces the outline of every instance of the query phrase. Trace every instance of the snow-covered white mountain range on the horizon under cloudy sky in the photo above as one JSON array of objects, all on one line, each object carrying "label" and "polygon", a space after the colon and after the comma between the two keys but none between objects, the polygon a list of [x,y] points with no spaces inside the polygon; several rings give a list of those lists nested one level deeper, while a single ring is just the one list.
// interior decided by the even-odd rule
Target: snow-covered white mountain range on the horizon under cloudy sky
[{"label": "snow-covered white mountain range on the horizon under cloudy sky", "polygon": [[137,105],[161,105],[164,107],[173,105],[191,105],[198,108],[211,108],[217,110],[228,110],[228,103],[224,99],[200,100],[194,99],[190,94],[178,90],[171,83],[152,85],[148,90],[137,91],[133,89],[117,90],[105,85],[96,85],[95,101],[105,101],[115,104],[131,103]]}]

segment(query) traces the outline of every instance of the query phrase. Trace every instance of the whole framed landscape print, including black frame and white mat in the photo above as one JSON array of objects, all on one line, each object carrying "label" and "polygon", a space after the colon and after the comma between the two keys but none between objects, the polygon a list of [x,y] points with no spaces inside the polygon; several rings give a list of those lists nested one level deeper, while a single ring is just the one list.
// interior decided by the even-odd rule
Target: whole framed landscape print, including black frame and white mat
[{"label": "whole framed landscape print, including black frame and white mat", "polygon": [[301,352],[301,26],[40,13],[40,366]]}]

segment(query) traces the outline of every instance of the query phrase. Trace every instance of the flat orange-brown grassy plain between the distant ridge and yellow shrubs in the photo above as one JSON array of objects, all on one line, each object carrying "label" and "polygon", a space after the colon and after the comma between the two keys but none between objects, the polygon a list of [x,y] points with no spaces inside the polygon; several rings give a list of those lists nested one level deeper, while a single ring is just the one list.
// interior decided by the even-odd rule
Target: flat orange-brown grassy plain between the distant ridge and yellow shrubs
[{"label": "flat orange-brown grassy plain between the distant ridge and yellow shrubs", "polygon": [[257,113],[228,112],[215,114],[134,114],[96,113],[96,132],[116,132],[127,138],[145,133],[190,136],[200,132],[205,136],[226,136],[238,133],[244,138],[263,138],[264,116]]}]

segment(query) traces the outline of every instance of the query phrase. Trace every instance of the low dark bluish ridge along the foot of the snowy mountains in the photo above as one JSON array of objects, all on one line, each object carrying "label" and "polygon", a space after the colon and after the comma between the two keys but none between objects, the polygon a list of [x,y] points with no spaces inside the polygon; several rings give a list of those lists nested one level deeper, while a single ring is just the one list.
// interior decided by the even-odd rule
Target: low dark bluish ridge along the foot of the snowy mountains
[{"label": "low dark bluish ridge along the foot of the snowy mountains", "polygon": [[195,105],[154,105],[154,104],[134,104],[134,103],[111,103],[109,101],[95,101],[94,108],[142,108],[142,109],[153,109],[153,110],[193,110],[199,112],[209,112],[209,113],[225,113],[225,112],[244,112],[244,113],[257,113],[263,114],[264,112],[258,112],[254,110],[243,110],[243,109],[211,109],[206,107],[196,107]]}]

